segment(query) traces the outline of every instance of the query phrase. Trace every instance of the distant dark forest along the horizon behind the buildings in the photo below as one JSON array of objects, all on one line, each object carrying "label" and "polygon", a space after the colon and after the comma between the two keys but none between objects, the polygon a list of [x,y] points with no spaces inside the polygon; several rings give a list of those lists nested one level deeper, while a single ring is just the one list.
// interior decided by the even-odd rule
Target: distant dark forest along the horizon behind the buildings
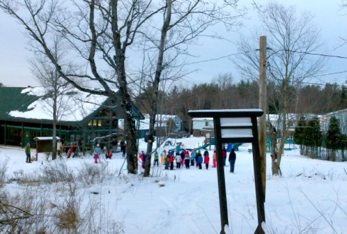
[{"label": "distant dark forest along the horizon behind the buildings", "polygon": [[[325,114],[347,108],[347,87],[338,84],[291,85],[289,98],[290,113]],[[149,109],[145,89],[135,98],[142,113]],[[269,113],[281,109],[282,88],[274,83],[267,84]],[[158,113],[177,114],[183,122],[183,130],[189,130],[191,121],[187,115],[191,109],[258,108],[259,82],[241,81],[237,84],[204,83],[191,88],[174,86],[169,92],[160,91]]]}]

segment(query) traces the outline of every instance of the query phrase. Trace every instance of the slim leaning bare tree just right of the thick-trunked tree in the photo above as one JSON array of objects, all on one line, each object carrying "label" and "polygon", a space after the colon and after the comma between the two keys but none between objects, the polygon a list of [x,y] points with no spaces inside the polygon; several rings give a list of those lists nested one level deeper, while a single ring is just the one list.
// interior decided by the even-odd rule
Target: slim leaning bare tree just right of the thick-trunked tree
[{"label": "slim leaning bare tree just right of the thick-trunked tree", "polygon": [[[237,15],[234,12],[237,11]],[[188,55],[187,46],[195,44],[197,38],[211,25],[224,23],[227,27],[238,24],[236,21],[244,12],[237,9],[237,1],[223,1],[221,4],[213,1],[165,1],[165,9],[161,12],[162,21],[159,21],[159,30],[151,27],[145,34],[150,38],[151,45],[148,50],[155,49],[154,72],[150,73],[151,90],[149,131],[147,144],[147,160],[145,162],[144,176],[150,175],[151,151],[154,128],[159,104],[160,82],[163,80],[162,72],[169,68],[176,58],[182,54]],[[217,36],[216,36],[217,37]]]}]

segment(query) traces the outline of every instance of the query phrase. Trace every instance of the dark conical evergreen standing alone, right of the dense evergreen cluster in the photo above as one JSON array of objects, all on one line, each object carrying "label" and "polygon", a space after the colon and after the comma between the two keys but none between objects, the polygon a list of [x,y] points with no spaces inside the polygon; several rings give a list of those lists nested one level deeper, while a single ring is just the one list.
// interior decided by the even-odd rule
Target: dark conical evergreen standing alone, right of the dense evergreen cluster
[{"label": "dark conical evergreen standing alone, right of the dense evergreen cluster", "polygon": [[326,143],[327,149],[332,150],[331,157],[333,161],[335,161],[334,150],[340,147],[341,145],[340,142],[341,142],[341,131],[338,124],[338,120],[336,119],[335,116],[332,116],[329,121],[329,128],[328,128],[327,136],[325,139],[325,143]]}]

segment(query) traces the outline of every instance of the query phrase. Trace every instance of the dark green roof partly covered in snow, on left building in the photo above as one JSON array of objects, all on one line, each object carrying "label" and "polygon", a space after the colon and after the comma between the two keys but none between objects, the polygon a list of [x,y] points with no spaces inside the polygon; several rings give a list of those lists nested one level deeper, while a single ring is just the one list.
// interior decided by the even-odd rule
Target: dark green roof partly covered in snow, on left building
[{"label": "dark green roof partly covered in snow, on left building", "polygon": [[[0,120],[52,123],[53,99],[45,95],[43,87],[0,87],[0,99]],[[70,89],[58,98],[58,122],[88,122],[107,101],[105,96]],[[144,119],[136,106],[132,105],[135,116]],[[113,109],[120,112],[117,107]]]}]

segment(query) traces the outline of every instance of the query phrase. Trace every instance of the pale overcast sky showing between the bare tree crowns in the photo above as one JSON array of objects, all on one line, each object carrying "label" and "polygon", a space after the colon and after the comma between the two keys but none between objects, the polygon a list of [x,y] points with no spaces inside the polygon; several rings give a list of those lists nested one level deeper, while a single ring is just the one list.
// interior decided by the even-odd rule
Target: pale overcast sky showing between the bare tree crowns
[{"label": "pale overcast sky showing between the bare tree crowns", "polygon": [[[199,62],[237,53],[235,45],[239,40],[240,33],[248,34],[257,25],[257,16],[250,5],[251,0],[239,0],[240,5],[249,8],[249,20],[244,20],[245,26],[239,30],[225,32],[222,27],[218,27],[218,33],[223,34],[230,42],[217,41],[202,38],[200,47],[191,48],[191,53],[196,58],[189,58],[189,62]],[[267,1],[258,0],[258,3],[266,4]],[[321,28],[322,39],[325,41],[325,51],[318,53],[328,53],[347,57],[347,45],[337,48],[341,42],[339,36],[347,37],[347,9],[341,11],[339,4],[341,0],[280,0],[280,3],[295,5],[297,11],[307,10],[315,15],[314,22]],[[36,86],[29,70],[28,58],[32,56],[26,49],[28,39],[23,36],[23,26],[19,25],[13,18],[0,12],[0,82],[9,87]],[[337,48],[337,49],[335,49]],[[326,73],[341,72],[347,70],[347,59],[329,59]],[[231,72],[238,77],[238,72],[229,58],[201,62],[189,65],[189,70],[198,70],[185,77],[189,84],[199,84],[210,82],[219,73]],[[322,76],[321,81],[311,82],[337,82],[344,83],[347,79],[347,72]]]}]

